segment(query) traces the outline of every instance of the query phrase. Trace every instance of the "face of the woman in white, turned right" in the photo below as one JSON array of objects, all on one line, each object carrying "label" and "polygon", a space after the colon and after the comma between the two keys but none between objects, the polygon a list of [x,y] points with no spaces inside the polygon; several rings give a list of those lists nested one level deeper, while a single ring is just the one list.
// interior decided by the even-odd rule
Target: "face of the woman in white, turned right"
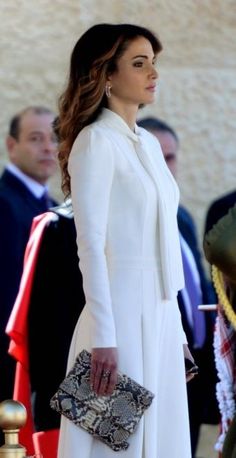
[{"label": "face of the woman in white, turned right", "polygon": [[155,99],[156,57],[151,43],[144,37],[131,41],[117,62],[117,70],[109,76],[111,86],[109,105],[133,105],[152,103]]}]

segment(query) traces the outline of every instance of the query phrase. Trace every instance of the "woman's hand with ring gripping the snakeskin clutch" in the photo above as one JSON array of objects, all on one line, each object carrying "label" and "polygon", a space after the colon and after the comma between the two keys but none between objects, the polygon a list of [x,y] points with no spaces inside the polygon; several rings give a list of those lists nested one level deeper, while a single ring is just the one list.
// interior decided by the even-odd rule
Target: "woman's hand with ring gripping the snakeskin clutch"
[{"label": "woman's hand with ring gripping the snakeskin clutch", "polygon": [[93,348],[90,385],[99,396],[112,394],[117,382],[117,348]]}]

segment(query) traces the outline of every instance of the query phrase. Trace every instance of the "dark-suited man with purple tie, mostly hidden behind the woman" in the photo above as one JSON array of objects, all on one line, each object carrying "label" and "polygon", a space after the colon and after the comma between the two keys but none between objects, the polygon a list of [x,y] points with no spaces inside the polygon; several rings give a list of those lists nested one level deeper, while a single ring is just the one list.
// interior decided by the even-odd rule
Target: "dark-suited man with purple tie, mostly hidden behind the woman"
[{"label": "dark-suited man with purple tie, mostly hidden behind the woman", "polygon": [[[176,132],[166,122],[153,117],[139,120],[138,125],[157,137],[166,163],[176,178],[179,149]],[[189,348],[199,366],[199,375],[187,385],[191,447],[192,456],[195,457],[201,424],[219,421],[213,355],[215,313],[204,313],[197,309],[200,304],[211,303],[215,295],[204,272],[195,223],[182,205],[178,208],[178,226],[185,275],[185,288],[178,293],[178,303]]]}]

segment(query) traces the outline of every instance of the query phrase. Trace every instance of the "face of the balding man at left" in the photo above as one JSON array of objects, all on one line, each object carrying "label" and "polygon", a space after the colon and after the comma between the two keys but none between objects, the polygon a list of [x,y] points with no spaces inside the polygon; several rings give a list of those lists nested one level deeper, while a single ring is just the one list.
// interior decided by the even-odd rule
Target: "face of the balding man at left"
[{"label": "face of the balding man at left", "polygon": [[27,111],[22,115],[19,136],[7,138],[10,161],[41,184],[55,173],[58,142],[52,129],[51,113],[36,114]]}]

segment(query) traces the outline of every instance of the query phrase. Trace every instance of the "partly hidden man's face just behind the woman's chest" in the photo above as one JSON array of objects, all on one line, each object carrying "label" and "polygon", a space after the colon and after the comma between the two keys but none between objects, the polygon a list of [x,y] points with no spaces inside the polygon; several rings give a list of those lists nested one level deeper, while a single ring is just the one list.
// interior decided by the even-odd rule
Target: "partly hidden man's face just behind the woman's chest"
[{"label": "partly hidden man's face just behind the woman's chest", "polygon": [[165,161],[172,175],[176,178],[178,143],[175,137],[170,132],[161,132],[159,130],[153,130],[152,133],[158,138]]}]

